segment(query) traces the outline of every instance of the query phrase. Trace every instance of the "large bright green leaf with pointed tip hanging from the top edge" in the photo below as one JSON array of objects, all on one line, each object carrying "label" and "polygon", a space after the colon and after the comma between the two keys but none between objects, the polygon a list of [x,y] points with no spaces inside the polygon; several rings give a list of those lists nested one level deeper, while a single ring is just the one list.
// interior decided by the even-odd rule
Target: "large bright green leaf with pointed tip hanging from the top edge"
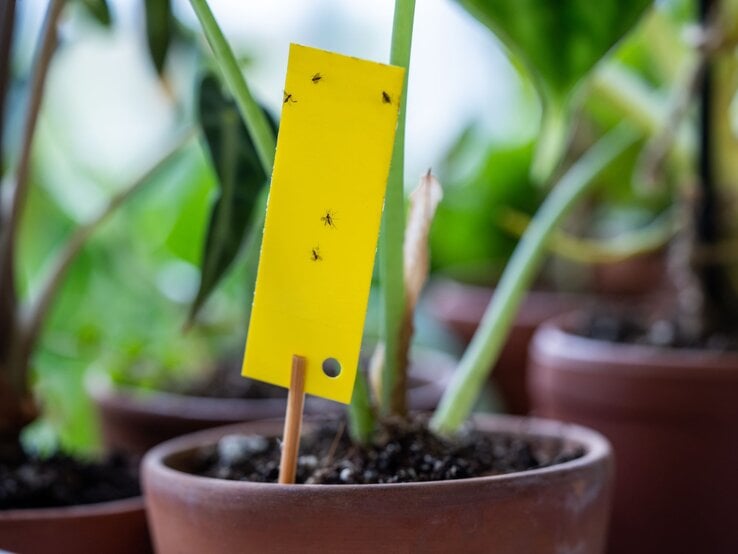
[{"label": "large bright green leaf with pointed tip hanging from the top edge", "polygon": [[459,0],[528,68],[544,104],[532,173],[547,180],[569,138],[571,95],[651,0]]}]

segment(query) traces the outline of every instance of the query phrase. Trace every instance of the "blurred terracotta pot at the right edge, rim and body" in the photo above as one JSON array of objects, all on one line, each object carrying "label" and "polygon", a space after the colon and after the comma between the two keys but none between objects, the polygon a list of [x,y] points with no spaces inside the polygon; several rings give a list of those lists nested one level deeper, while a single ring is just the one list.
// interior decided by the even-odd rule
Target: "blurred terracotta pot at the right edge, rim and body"
[{"label": "blurred terracotta pot at the right edge, rim and body", "polygon": [[537,415],[599,430],[617,459],[613,554],[738,552],[738,355],[539,328]]}]

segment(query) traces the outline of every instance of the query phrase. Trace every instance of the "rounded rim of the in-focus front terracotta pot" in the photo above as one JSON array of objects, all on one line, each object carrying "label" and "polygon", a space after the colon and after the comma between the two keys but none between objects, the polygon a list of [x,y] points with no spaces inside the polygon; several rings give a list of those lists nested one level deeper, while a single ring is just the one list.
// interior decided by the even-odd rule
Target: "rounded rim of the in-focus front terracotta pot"
[{"label": "rounded rim of the in-focus front terracotta pot", "polygon": [[[539,437],[546,439],[559,438],[582,446],[584,455],[568,462],[555,464],[538,469],[506,473],[501,475],[488,475],[482,477],[470,477],[466,479],[451,479],[444,481],[424,481],[414,483],[379,483],[366,485],[334,485],[334,484],[291,484],[280,485],[277,483],[257,483],[252,481],[231,481],[215,477],[204,477],[194,475],[168,465],[169,460],[175,456],[185,455],[196,448],[213,444],[218,438],[229,433],[237,432],[246,428],[274,428],[281,430],[281,421],[271,422],[248,422],[236,425],[227,425],[214,429],[198,431],[189,435],[183,435],[163,442],[144,456],[141,463],[144,490],[146,480],[152,479],[178,479],[185,480],[195,487],[214,487],[229,491],[248,491],[258,488],[260,492],[272,490],[275,494],[350,494],[362,491],[365,493],[380,493],[385,490],[428,489],[434,487],[474,487],[480,483],[507,483],[519,479],[537,479],[550,474],[563,474],[580,468],[590,467],[599,463],[607,463],[611,459],[612,447],[608,440],[600,433],[563,421],[542,419],[534,417],[519,417],[508,415],[476,414],[473,416],[474,424],[484,427],[486,432],[500,432],[507,434],[522,434],[528,437]],[[317,491],[317,492],[316,492]]]}]

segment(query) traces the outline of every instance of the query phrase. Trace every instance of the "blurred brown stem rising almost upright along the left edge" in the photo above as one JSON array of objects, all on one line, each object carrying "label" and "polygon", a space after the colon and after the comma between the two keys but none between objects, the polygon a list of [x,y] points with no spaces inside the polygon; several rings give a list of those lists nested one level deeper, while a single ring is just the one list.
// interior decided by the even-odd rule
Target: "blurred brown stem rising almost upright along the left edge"
[{"label": "blurred brown stem rising almost upright along the left edge", "polygon": [[0,307],[8,309],[8,313],[0,314],[3,334],[8,337],[4,352],[0,352],[0,367],[9,371],[10,387],[17,392],[19,398],[28,396],[27,363],[19,363],[15,359],[14,348],[18,333],[17,299],[15,298],[15,249],[21,215],[28,196],[29,170],[31,148],[36,131],[36,122],[41,108],[44,85],[48,74],[49,64],[57,45],[57,25],[61,16],[64,0],[52,0],[49,3],[44,19],[38,50],[36,52],[31,77],[31,90],[28,98],[21,135],[20,154],[15,168],[15,178],[12,181],[12,195],[8,211],[3,208],[2,226],[0,226],[0,294],[3,301]]}]

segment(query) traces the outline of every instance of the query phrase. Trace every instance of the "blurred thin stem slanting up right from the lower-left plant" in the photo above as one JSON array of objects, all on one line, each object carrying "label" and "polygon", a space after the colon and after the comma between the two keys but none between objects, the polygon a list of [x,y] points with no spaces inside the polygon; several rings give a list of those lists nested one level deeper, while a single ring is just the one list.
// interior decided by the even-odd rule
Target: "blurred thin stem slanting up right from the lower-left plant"
[{"label": "blurred thin stem slanting up right from the lower-left plant", "polygon": [[16,382],[20,379],[25,379],[30,356],[38,340],[43,322],[46,319],[46,314],[56,297],[56,293],[64,280],[67,270],[79,255],[82,247],[112,214],[147,184],[151,180],[151,177],[169,163],[195,136],[195,131],[185,132],[138,179],[115,194],[92,220],[79,226],[61,248],[61,251],[46,275],[36,300],[24,314],[20,322],[18,337],[14,344],[13,355],[11,356],[11,370],[14,373]]}]

